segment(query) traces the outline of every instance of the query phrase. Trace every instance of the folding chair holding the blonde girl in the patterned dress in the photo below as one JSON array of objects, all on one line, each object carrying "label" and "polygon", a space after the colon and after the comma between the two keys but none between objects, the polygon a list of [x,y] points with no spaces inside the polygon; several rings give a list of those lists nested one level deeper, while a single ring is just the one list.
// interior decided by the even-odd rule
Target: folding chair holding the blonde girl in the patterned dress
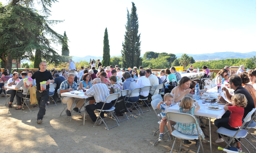
[{"label": "folding chair holding the blonde girl in the patterned dress", "polygon": [[[174,130],[172,131],[172,136],[175,137],[174,139],[174,143],[172,145],[172,150],[171,152],[173,151],[174,147],[176,148],[176,140],[177,138],[180,138],[180,139],[186,139],[186,140],[194,140],[194,139],[199,139],[200,141],[200,146],[198,146],[198,149],[197,150],[194,150],[194,149],[189,149],[189,148],[185,148],[185,147],[182,147],[182,140],[181,140],[181,145],[179,146],[179,148],[184,148],[184,149],[189,149],[189,150],[192,150],[192,151],[197,151],[197,153],[199,152],[199,149],[200,147],[202,147],[202,152],[203,151],[203,145],[202,145],[202,141],[201,141],[201,137],[200,137],[200,134],[199,134],[199,131],[198,131],[198,126],[197,126],[197,122],[196,122],[196,118],[191,115],[191,114],[185,114],[185,113],[179,113],[179,112],[167,112],[166,113],[166,118],[168,120],[172,120],[174,122],[179,122],[179,123],[190,123],[190,124],[196,124],[196,128],[197,128],[197,133],[198,135],[186,135],[186,134],[182,134],[181,132],[177,131],[177,130]],[[169,123],[169,122],[168,122]],[[170,123],[169,123],[169,126]],[[177,150],[178,152],[180,152],[181,150]]]}]

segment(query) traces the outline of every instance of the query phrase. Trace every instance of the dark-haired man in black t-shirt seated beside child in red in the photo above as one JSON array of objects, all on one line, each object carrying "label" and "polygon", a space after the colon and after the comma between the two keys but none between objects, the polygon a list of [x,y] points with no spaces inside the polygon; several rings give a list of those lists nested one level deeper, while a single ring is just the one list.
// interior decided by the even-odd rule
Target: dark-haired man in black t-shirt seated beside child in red
[{"label": "dark-haired man in black t-shirt seated beside child in red", "polygon": [[[242,79],[238,75],[232,75],[229,78],[228,86],[229,86],[229,88],[234,89],[234,94],[243,94],[246,97],[246,99],[247,99],[247,105],[244,108],[244,115],[243,115],[243,119],[244,119],[246,117],[246,115],[249,112],[251,112],[253,108],[255,108],[253,97],[247,91],[247,89],[242,87]],[[228,101],[231,102],[232,96],[230,95],[228,89],[223,87],[222,90],[225,91],[225,95],[226,95]],[[223,100],[223,98],[220,98],[220,101],[222,101],[222,100]],[[228,118],[229,115],[230,115],[230,112],[226,112],[222,116],[221,119],[216,119],[214,121],[214,124],[217,126],[219,122],[225,120],[225,118]],[[226,121],[228,121],[228,119],[226,119]]]}]

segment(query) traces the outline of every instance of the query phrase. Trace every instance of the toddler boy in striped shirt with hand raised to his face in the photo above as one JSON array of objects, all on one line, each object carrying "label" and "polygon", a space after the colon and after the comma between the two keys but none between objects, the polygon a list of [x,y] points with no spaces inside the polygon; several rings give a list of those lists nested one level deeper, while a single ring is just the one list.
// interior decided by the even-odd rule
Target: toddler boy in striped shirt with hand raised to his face
[{"label": "toddler boy in striped shirt with hand raised to his face", "polygon": [[[173,106],[171,103],[173,101],[173,96],[170,94],[170,93],[166,93],[165,96],[163,97],[164,101],[161,101],[157,106],[156,108],[157,109],[162,109],[162,112],[160,113],[161,116],[162,116],[162,120],[160,121],[160,126],[159,126],[159,131],[160,131],[160,134],[159,134],[159,139],[158,141],[162,141],[163,140],[163,129],[164,129],[164,126],[167,124],[167,127],[168,129],[170,130],[170,127],[169,127],[169,124],[168,122],[170,122],[170,124],[174,124],[175,122],[169,120],[167,121],[166,119],[166,112],[167,112],[167,108]],[[173,127],[171,126],[172,130],[173,130]],[[171,130],[170,130],[170,137],[168,138],[167,141],[172,141],[172,137],[171,137]]]}]

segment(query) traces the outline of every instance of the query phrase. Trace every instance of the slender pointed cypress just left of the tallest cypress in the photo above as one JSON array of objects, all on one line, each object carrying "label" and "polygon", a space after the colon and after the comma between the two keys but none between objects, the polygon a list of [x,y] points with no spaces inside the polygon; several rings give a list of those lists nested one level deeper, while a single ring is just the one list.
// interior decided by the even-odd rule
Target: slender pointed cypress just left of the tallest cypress
[{"label": "slender pointed cypress just left of the tallest cypress", "polygon": [[107,28],[105,29],[104,33],[104,40],[103,40],[103,60],[102,60],[102,66],[110,66],[110,48],[109,48],[109,35]]}]

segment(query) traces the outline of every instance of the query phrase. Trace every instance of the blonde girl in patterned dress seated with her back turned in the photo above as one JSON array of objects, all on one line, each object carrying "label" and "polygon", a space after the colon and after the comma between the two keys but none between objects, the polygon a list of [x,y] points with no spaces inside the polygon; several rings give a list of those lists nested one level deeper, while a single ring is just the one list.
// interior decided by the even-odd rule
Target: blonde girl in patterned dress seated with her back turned
[{"label": "blonde girl in patterned dress seated with her back turned", "polygon": [[[194,101],[191,97],[188,97],[188,96],[183,97],[181,100],[181,103],[180,103],[180,113],[191,114],[195,117],[194,113],[200,109],[200,106],[198,105],[197,102],[195,102],[196,107],[193,107],[193,103],[194,103]],[[201,136],[201,139],[204,140],[203,131],[201,130],[197,120],[196,120],[196,122],[197,122],[198,131]],[[197,128],[196,128],[195,124],[178,123],[177,122],[176,125],[174,125],[174,128],[183,134],[198,135]],[[184,144],[190,144],[190,143],[191,143],[190,141],[184,140]],[[197,139],[196,147],[198,147],[199,145],[200,145],[200,141],[199,141],[199,139]]]}]

